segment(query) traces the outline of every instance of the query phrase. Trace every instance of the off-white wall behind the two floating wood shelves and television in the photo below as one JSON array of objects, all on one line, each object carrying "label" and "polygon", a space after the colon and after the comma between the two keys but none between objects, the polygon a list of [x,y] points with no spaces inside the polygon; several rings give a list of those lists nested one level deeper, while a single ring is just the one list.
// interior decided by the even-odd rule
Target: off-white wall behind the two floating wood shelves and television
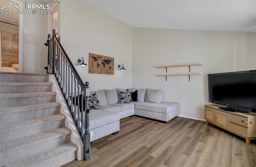
[{"label": "off-white wall behind the two floating wood shelves and television", "polygon": [[[180,115],[204,119],[208,73],[256,69],[256,33],[132,28],[132,87],[164,90],[164,101],[180,103]],[[201,63],[191,73],[157,77],[158,66]],[[188,67],[168,68],[168,74],[188,73]]]}]

